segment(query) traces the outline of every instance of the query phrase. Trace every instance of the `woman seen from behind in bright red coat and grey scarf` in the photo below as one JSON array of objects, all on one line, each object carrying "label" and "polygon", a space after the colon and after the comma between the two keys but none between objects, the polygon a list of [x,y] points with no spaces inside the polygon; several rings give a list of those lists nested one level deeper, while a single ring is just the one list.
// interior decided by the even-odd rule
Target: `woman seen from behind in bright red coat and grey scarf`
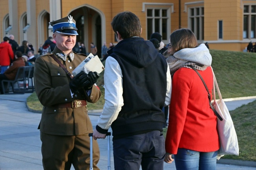
[{"label": "woman seen from behind in bright red coat and grey scarf", "polygon": [[219,136],[217,117],[211,110],[208,92],[194,66],[213,90],[211,55],[205,44],[189,29],[170,35],[167,62],[173,76],[169,126],[165,141],[165,162],[174,161],[177,170],[215,170]]}]

